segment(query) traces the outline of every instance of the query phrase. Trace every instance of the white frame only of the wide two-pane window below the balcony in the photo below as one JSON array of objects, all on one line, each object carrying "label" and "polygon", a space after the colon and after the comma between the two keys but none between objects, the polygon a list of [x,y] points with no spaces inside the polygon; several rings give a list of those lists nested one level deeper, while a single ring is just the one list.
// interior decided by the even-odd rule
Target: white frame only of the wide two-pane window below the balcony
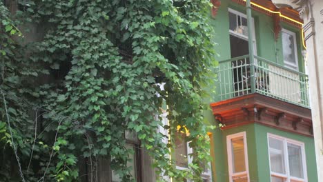
[{"label": "white frame only of the wide two-pane window below the balcony", "polygon": [[[269,146],[269,138],[277,139],[277,140],[280,140],[280,141],[283,142],[283,145],[284,145],[284,151],[283,151],[284,152],[284,164],[285,164],[284,168],[285,168],[286,174],[280,174],[280,173],[271,171],[271,156],[270,156],[271,148]],[[300,148],[301,148],[301,152],[302,152],[302,168],[303,168],[304,179],[300,179],[300,178],[291,176],[289,174],[290,172],[289,172],[288,148],[287,148],[288,143],[300,146]],[[304,143],[302,143],[300,141],[295,141],[293,139],[288,139],[288,138],[283,137],[283,136],[278,136],[278,135],[275,135],[275,134],[268,133],[267,134],[267,145],[268,145],[269,170],[271,171],[271,176],[284,178],[284,180],[286,182],[290,182],[291,180],[300,181],[300,182],[308,182],[307,181],[306,155],[305,155],[305,145],[304,145]]]}]

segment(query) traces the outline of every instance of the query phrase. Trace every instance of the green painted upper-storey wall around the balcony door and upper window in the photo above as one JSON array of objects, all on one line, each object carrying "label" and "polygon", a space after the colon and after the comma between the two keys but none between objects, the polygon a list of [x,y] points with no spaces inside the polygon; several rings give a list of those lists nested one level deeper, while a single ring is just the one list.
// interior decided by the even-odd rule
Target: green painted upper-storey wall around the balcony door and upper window
[{"label": "green painted upper-storey wall around the balcony door and upper window", "polygon": [[[246,14],[246,8],[237,3],[233,3],[232,1],[222,1],[221,6],[219,7],[217,16],[215,19],[212,19],[211,23],[215,28],[215,34],[213,37],[213,41],[217,43],[215,46],[215,50],[217,52],[217,61],[224,61],[227,59],[231,59],[231,50],[230,50],[230,34],[229,34],[229,19],[228,19],[228,8],[233,10],[237,10],[238,12],[242,12]],[[273,30],[273,18],[269,17],[266,14],[253,11],[252,13],[253,19],[255,22],[255,40],[256,40],[256,52],[257,56],[263,57],[269,61],[273,61],[274,63],[278,63],[280,65],[284,65],[283,52],[282,52],[282,37],[281,33],[275,40],[275,34]],[[297,38],[297,58],[299,61],[299,69],[300,72],[304,72],[304,60],[302,57],[302,36],[301,30],[297,29],[288,23],[281,23],[282,28],[286,30],[290,30],[295,32]],[[229,65],[230,66],[230,65]],[[228,75],[232,74],[228,72]],[[219,101],[223,99],[229,99],[229,96],[220,98],[219,94],[224,92],[233,91],[233,84],[225,84],[232,83],[231,77],[226,78],[224,80],[223,74],[219,76],[217,80],[221,80],[222,85],[225,85],[225,88],[222,90],[219,89],[219,86],[215,88],[217,94],[213,94],[213,100]],[[218,81],[218,84],[220,81]],[[224,83],[225,82],[225,83]],[[226,91],[224,91],[226,90]]]}]

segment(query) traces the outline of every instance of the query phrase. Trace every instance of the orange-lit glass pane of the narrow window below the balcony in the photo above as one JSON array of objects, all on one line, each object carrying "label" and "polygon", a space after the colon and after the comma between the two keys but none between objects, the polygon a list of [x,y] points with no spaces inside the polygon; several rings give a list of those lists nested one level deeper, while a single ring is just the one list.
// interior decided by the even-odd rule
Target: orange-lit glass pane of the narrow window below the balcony
[{"label": "orange-lit glass pane of the narrow window below the balcony", "polygon": [[244,158],[244,137],[240,136],[231,139],[231,152],[232,152],[232,166],[233,172],[246,171],[245,158]]}]

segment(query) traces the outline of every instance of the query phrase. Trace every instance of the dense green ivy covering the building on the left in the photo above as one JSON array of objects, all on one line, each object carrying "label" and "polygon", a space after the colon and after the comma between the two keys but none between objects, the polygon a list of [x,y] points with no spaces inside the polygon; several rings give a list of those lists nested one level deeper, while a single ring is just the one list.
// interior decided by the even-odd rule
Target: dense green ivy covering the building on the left
[{"label": "dense green ivy covering the building on the left", "polygon": [[[214,63],[208,0],[19,0],[16,8],[0,1],[2,181],[79,181],[84,159],[95,181],[102,157],[133,181],[126,130],[160,176],[202,180],[202,87]],[[165,102],[170,125],[156,117]],[[173,136],[177,125],[190,132],[190,171],[174,168],[173,144],[156,132]]]}]

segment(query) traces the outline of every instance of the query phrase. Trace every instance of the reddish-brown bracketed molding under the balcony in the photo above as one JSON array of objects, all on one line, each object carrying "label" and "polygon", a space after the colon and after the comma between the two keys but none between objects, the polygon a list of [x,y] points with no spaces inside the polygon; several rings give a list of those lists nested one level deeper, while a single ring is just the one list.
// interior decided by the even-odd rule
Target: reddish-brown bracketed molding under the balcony
[{"label": "reddish-brown bracketed molding under the balcony", "polygon": [[311,110],[262,94],[248,94],[211,103],[222,130],[259,123],[271,128],[313,137]]}]

